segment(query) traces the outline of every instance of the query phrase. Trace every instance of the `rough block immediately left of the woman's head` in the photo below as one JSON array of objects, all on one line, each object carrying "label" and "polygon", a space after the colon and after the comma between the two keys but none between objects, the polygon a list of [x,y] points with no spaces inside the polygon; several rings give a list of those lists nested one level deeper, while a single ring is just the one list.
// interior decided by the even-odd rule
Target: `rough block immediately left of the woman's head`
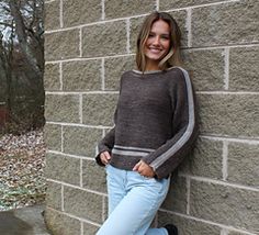
[{"label": "rough block immediately left of the woman's head", "polygon": [[126,22],[115,21],[82,29],[83,57],[111,56],[127,53]]}]

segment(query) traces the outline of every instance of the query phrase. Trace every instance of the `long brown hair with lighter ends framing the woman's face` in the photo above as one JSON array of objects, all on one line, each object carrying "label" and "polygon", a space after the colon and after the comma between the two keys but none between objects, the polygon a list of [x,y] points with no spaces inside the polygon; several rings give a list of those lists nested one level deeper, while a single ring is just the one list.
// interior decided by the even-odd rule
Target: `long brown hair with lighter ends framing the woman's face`
[{"label": "long brown hair with lighter ends framing the woman's face", "polygon": [[179,66],[182,64],[180,55],[180,46],[181,46],[180,27],[178,26],[176,20],[169,13],[156,11],[146,16],[137,36],[136,64],[137,68],[140,71],[145,71],[146,69],[146,56],[144,54],[144,47],[146,41],[148,38],[154,22],[158,20],[167,22],[170,27],[170,49],[168,54],[159,61],[158,65],[159,69],[165,70],[169,67]]}]

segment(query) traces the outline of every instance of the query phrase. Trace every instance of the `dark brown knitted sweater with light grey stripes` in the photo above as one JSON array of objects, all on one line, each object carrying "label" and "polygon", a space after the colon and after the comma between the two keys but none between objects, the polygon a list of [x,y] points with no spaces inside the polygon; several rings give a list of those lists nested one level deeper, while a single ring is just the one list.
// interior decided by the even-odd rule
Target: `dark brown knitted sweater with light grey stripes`
[{"label": "dark brown knitted sweater with light grey stripes", "polygon": [[196,134],[195,102],[188,72],[131,70],[121,78],[114,127],[99,143],[110,164],[132,170],[142,159],[158,179],[168,177],[191,149]]}]

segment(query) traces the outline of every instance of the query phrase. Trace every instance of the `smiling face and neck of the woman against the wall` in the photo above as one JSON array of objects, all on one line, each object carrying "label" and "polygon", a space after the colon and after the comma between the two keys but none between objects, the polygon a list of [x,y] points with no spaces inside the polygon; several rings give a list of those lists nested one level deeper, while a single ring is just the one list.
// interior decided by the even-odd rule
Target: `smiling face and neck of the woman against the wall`
[{"label": "smiling face and neck of the woman against the wall", "polygon": [[158,20],[153,23],[150,33],[144,46],[147,59],[147,69],[158,69],[159,61],[170,49],[170,26],[167,22]]}]

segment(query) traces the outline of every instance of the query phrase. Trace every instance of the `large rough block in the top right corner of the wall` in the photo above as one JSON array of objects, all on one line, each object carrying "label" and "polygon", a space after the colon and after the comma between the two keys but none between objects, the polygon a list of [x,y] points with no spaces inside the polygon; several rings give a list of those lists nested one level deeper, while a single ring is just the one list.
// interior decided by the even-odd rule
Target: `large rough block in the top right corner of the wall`
[{"label": "large rough block in the top right corner of the wall", "polygon": [[256,43],[259,4],[251,0],[192,10],[192,46]]}]

